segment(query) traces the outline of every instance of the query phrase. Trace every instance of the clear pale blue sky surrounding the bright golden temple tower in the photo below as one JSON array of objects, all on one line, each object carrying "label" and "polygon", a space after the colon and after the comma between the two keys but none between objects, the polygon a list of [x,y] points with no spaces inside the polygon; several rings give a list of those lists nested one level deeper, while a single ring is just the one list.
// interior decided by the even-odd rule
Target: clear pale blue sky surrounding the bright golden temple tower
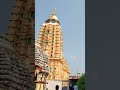
[{"label": "clear pale blue sky surrounding the bright golden temple tower", "polygon": [[35,39],[56,8],[63,32],[63,55],[71,75],[85,72],[85,0],[35,0]]}]

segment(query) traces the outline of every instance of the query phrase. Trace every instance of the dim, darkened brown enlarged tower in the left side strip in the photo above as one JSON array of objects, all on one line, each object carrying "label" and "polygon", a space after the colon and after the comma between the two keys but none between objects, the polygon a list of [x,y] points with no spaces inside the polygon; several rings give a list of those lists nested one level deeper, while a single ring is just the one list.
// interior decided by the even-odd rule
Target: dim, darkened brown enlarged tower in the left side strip
[{"label": "dim, darkened brown enlarged tower in the left side strip", "polygon": [[9,19],[7,36],[19,59],[35,71],[34,0],[16,0]]}]

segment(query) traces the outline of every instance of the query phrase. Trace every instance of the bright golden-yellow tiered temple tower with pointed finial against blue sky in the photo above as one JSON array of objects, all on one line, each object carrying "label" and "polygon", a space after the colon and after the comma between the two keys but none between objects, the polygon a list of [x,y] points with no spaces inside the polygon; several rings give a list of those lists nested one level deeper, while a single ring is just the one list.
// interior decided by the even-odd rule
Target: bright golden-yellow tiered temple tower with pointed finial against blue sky
[{"label": "bright golden-yellow tiered temple tower with pointed finial against blue sky", "polygon": [[69,65],[63,57],[63,39],[60,22],[56,16],[56,9],[52,15],[42,24],[38,43],[50,57],[50,74],[49,80],[68,80]]}]

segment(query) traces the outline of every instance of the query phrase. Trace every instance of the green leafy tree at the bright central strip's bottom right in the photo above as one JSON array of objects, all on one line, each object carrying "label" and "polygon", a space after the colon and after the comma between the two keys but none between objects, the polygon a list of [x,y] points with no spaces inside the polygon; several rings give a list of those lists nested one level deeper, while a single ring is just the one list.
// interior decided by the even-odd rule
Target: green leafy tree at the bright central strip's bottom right
[{"label": "green leafy tree at the bright central strip's bottom right", "polygon": [[85,74],[83,74],[76,83],[78,90],[85,90]]}]

